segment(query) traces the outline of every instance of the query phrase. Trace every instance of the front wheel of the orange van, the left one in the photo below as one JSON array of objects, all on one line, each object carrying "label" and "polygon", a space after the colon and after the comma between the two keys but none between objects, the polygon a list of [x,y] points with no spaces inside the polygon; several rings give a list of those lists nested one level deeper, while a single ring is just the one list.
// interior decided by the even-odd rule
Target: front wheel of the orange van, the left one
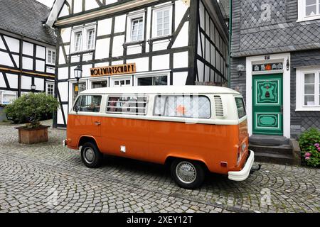
[{"label": "front wheel of the orange van, the left one", "polygon": [[86,167],[97,168],[102,164],[103,155],[95,143],[86,142],[81,148],[81,160]]}]

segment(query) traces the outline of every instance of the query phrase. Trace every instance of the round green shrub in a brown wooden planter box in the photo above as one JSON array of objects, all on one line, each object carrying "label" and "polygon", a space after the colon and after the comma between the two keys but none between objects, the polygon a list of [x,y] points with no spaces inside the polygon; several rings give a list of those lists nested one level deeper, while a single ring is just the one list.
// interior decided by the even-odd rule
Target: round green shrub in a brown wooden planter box
[{"label": "round green shrub in a brown wooden planter box", "polygon": [[18,129],[19,143],[42,143],[48,141],[48,128],[41,125],[41,117],[58,109],[58,101],[45,93],[28,93],[6,106],[5,112],[9,120],[25,123]]}]

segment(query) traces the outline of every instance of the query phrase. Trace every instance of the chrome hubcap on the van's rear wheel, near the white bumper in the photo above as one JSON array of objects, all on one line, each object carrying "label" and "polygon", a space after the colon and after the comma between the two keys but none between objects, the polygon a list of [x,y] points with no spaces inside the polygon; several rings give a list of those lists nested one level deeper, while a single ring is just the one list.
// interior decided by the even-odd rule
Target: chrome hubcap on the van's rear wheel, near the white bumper
[{"label": "chrome hubcap on the van's rear wheel, near the white bumper", "polygon": [[191,184],[197,177],[196,167],[190,162],[180,162],[176,166],[176,176],[181,182]]}]

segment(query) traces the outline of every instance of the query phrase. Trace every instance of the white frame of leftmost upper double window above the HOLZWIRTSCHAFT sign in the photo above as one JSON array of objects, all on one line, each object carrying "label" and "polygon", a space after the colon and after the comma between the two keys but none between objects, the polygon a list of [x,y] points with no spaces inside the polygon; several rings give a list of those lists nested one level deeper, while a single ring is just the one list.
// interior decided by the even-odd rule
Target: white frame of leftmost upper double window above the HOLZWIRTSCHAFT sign
[{"label": "white frame of leftmost upper double window above the HOLZWIRTSCHAFT sign", "polygon": [[[97,33],[97,28],[96,28],[96,24],[91,24],[91,25],[87,25],[87,26],[82,26],[82,27],[78,27],[78,28],[74,28],[72,33],[71,33],[71,53],[75,53],[75,52],[84,52],[84,51],[88,51],[88,50],[95,50],[95,35]],[[93,37],[92,37],[92,48],[88,48],[88,35],[89,35],[89,31],[93,30]],[[76,38],[76,34],[77,33],[81,33],[81,40],[80,40],[80,50],[75,50],[75,38]]]}]

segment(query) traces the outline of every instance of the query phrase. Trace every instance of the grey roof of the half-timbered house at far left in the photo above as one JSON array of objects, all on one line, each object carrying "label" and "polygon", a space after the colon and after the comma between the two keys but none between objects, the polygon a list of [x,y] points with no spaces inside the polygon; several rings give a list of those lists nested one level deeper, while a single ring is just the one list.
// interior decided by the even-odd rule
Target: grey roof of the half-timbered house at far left
[{"label": "grey roof of the half-timbered house at far left", "polygon": [[43,27],[49,12],[36,0],[0,0],[0,29],[55,45],[53,30]]}]

